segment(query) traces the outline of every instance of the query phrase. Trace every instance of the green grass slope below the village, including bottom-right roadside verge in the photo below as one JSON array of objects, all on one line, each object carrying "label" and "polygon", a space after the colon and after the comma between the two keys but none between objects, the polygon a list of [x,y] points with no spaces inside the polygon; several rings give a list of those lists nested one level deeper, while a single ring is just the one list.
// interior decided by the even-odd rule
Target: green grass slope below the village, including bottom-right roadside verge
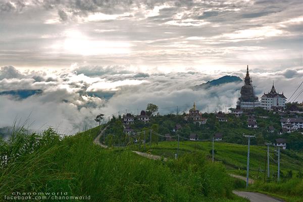
[{"label": "green grass slope below the village, including bottom-right roadside verge", "polygon": [[[149,148],[149,147],[147,147]],[[150,152],[164,157],[174,158],[176,153],[177,142],[166,141],[159,142],[158,145],[152,145]],[[210,150],[212,149],[211,142],[180,142],[179,156],[186,153],[192,153],[195,151],[202,151],[211,158]],[[246,176],[246,160],[247,160],[247,145],[231,144],[224,142],[215,142],[215,161],[221,161],[227,167],[228,173],[234,173],[242,176]],[[265,157],[267,147],[265,146],[250,146],[250,177],[257,179],[259,165],[264,170]],[[271,151],[271,156],[274,157],[274,151]],[[277,172],[277,165],[270,161],[271,175]],[[288,170],[295,171],[302,170],[303,158],[301,154],[296,154],[293,151],[281,150],[281,171],[286,174]],[[238,169],[241,170],[238,170]],[[250,186],[251,191],[258,191],[266,193],[272,196],[283,198],[286,201],[303,201],[303,180],[298,178],[290,179],[286,182],[280,183],[264,183],[264,171],[259,172],[259,180],[254,185]]]}]

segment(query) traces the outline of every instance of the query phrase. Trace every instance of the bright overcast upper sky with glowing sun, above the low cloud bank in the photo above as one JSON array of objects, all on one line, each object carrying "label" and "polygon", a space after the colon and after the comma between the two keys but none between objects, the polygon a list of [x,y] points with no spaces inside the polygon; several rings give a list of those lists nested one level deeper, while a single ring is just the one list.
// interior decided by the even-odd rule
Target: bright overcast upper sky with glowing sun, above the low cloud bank
[{"label": "bright overcast upper sky with glowing sun, above the low cloud bank", "polygon": [[302,63],[299,0],[0,4],[2,66],[67,68],[77,63],[180,71],[246,64],[282,69]]}]

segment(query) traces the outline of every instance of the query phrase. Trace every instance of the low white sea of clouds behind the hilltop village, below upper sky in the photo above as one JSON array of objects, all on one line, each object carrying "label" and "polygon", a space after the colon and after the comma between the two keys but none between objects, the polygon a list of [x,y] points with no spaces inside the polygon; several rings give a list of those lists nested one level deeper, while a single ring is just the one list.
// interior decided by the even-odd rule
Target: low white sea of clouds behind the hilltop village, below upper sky
[{"label": "low white sea of clouds behind the hilltop village, below upper sky", "polygon": [[[171,72],[151,73],[132,71],[121,66],[73,66],[61,70],[18,70],[13,66],[1,68],[0,91],[41,89],[41,94],[19,99],[11,95],[0,96],[0,128],[12,126],[14,120],[27,120],[30,128],[40,131],[48,126],[60,133],[74,134],[96,126],[94,118],[103,113],[118,116],[140,113],[148,103],[159,106],[160,114],[187,112],[196,102],[206,112],[225,111],[234,107],[240,83],[228,83],[211,88],[193,90],[194,85],[225,75],[244,77],[243,71],[229,72]],[[279,71],[254,69],[250,75],[256,94],[268,92],[275,81],[276,90],[290,97],[303,77],[302,68]],[[300,95],[297,101],[302,102]]]}]

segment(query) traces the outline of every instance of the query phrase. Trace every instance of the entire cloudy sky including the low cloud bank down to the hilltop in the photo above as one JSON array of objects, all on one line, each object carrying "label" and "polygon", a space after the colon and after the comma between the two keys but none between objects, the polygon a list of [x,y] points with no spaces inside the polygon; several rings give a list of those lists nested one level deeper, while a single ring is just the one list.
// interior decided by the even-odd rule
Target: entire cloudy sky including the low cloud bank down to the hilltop
[{"label": "entire cloudy sky including the low cloud bank down to the hilltop", "polygon": [[[303,77],[303,3],[294,1],[0,1],[0,127],[30,117],[36,130],[92,127],[98,113],[193,102],[234,106],[240,84],[195,91],[246,65],[262,95],[290,97]],[[302,102],[303,97],[297,98]],[[181,107],[183,106],[183,107]],[[72,131],[72,132],[71,132]]]}]

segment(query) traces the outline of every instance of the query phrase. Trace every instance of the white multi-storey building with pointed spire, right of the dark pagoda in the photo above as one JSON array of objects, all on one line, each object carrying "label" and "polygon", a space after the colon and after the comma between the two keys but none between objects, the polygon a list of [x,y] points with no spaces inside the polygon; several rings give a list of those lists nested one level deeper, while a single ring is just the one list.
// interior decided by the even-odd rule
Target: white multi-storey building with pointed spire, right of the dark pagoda
[{"label": "white multi-storey building with pointed spire, right of the dark pagoda", "polygon": [[274,82],[270,92],[265,93],[261,97],[261,107],[270,110],[272,107],[285,107],[286,97],[276,92]]}]

